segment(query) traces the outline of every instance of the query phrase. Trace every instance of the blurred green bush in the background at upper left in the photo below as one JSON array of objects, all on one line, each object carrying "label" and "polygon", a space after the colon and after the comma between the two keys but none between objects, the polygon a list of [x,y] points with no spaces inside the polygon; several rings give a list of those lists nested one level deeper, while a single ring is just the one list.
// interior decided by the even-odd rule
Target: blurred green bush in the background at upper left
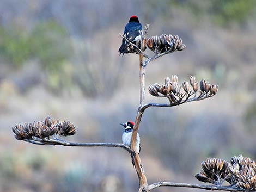
[{"label": "blurred green bush in the background at upper left", "polygon": [[35,58],[44,69],[57,70],[70,55],[66,30],[54,21],[37,24],[31,31],[14,24],[1,26],[0,35],[0,55],[15,67]]}]

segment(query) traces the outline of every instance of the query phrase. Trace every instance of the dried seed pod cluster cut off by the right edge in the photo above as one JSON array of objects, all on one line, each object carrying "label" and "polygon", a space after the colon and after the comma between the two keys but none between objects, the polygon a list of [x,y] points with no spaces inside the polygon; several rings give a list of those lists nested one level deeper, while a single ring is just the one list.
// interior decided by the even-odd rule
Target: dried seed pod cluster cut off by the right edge
[{"label": "dried seed pod cluster cut off by the right edge", "polygon": [[229,166],[230,176],[227,181],[231,185],[238,185],[243,189],[256,189],[256,162],[249,157],[240,156],[232,157]]}]

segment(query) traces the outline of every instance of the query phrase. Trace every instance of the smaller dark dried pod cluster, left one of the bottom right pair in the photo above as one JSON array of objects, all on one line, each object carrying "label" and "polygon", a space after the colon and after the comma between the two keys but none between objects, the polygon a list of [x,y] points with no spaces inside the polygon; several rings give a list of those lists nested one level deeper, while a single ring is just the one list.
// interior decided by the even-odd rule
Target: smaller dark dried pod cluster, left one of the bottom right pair
[{"label": "smaller dark dried pod cluster, left one of the bottom right pair", "polygon": [[195,175],[199,181],[221,185],[229,176],[229,163],[223,159],[208,158],[201,166],[200,173]]}]

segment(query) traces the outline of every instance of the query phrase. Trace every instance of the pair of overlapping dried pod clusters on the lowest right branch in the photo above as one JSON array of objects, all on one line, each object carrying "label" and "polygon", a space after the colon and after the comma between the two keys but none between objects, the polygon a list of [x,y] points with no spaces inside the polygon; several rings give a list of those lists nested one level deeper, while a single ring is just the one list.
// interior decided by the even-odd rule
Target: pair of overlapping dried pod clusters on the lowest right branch
[{"label": "pair of overlapping dried pod clusters on the lowest right branch", "polygon": [[215,185],[227,181],[231,186],[256,190],[256,162],[249,157],[234,156],[230,163],[222,159],[209,158],[201,165],[200,173],[195,175],[199,181]]}]

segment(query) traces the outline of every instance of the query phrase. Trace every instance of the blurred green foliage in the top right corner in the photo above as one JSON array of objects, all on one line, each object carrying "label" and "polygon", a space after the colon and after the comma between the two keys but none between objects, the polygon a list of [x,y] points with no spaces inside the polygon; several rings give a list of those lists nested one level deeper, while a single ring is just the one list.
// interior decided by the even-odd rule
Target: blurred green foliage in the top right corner
[{"label": "blurred green foliage in the top right corner", "polygon": [[[191,11],[197,21],[209,16],[219,26],[229,26],[232,22],[243,24],[255,14],[254,0],[169,0],[170,5]],[[254,15],[255,16],[255,15]]]}]

